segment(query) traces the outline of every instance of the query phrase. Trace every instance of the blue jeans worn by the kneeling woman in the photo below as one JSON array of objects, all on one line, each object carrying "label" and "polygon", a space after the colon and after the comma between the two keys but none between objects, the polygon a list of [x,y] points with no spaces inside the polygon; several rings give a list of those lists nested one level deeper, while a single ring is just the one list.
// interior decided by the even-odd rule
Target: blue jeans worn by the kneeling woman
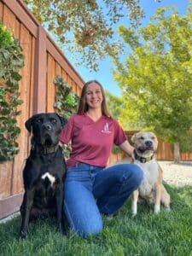
[{"label": "blue jeans worn by the kneeling woman", "polygon": [[134,164],[103,169],[78,163],[68,168],[64,211],[72,230],[80,236],[98,234],[102,230],[101,214],[117,212],[142,179],[143,171]]}]

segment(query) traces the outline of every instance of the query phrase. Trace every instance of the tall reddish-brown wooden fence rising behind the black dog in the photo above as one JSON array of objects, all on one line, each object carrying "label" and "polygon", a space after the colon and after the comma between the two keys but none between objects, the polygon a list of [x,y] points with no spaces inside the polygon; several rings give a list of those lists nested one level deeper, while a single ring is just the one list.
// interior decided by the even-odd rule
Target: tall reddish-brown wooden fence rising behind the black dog
[{"label": "tall reddish-brown wooden fence rising behind the black dog", "polygon": [[20,172],[29,150],[26,119],[33,113],[54,112],[56,75],[61,75],[77,95],[84,80],[21,0],[0,0],[0,20],[19,38],[25,55],[25,67],[20,71],[20,99],[24,103],[17,120],[21,129],[20,153],[0,165],[0,218],[3,218],[17,211],[22,200]]}]

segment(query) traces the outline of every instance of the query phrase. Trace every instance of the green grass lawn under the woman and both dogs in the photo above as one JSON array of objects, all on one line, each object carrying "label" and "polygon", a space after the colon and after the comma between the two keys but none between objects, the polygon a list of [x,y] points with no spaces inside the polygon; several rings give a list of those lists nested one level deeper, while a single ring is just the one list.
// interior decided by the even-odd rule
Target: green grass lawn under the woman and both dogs
[{"label": "green grass lawn under the woman and both dogs", "polygon": [[114,218],[103,218],[99,236],[82,238],[70,231],[55,232],[55,223],[30,224],[26,240],[20,241],[20,217],[0,224],[0,255],[192,255],[192,187],[166,185],[171,194],[172,211],[154,215],[153,207],[139,204],[136,218],[131,217],[127,201]]}]

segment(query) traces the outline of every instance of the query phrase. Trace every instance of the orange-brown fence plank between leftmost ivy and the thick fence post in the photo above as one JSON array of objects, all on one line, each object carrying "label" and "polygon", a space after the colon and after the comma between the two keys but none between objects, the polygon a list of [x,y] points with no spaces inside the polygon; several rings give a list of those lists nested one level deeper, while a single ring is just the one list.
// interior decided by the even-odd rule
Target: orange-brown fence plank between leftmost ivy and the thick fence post
[{"label": "orange-brown fence plank between leftmost ivy and the thick fence post", "polygon": [[13,195],[22,191],[21,183],[21,166],[28,154],[28,132],[25,128],[26,119],[29,116],[30,106],[30,84],[31,84],[31,72],[32,72],[32,35],[26,30],[25,26],[20,26],[20,45],[25,55],[25,67],[22,68],[20,74],[22,79],[20,80],[20,99],[23,104],[18,107],[21,111],[21,115],[18,117],[17,122],[20,127],[20,137],[18,137],[18,143],[20,145],[20,153],[15,156],[14,172],[13,172]]}]

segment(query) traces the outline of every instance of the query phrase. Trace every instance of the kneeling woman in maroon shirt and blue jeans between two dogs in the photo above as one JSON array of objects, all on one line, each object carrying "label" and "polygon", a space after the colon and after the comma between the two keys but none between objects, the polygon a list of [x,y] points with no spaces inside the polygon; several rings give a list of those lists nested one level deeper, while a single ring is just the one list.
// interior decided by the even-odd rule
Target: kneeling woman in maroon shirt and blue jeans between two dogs
[{"label": "kneeling woman in maroon shirt and blue jeans between two dogs", "polygon": [[80,236],[98,234],[102,214],[113,214],[123,206],[141,183],[143,172],[134,164],[106,167],[113,143],[129,156],[134,148],[110,117],[102,84],[96,80],[84,84],[78,113],[68,120],[60,141],[72,142],[64,186],[70,227]]}]

